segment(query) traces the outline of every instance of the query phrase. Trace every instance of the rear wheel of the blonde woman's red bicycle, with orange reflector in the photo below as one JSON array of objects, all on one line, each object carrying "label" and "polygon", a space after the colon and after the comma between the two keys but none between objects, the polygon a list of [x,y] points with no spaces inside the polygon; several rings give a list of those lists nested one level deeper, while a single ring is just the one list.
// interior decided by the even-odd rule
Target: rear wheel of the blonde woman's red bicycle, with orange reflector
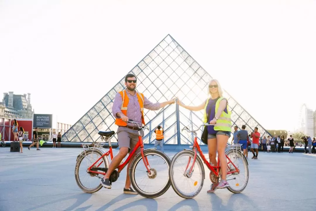
[{"label": "rear wheel of the blonde woman's red bicycle, with orange reflector", "polygon": [[[227,187],[227,189],[232,193],[241,193],[246,188],[249,179],[246,158],[239,150],[229,150],[226,155],[240,170],[240,172],[227,175],[227,180],[229,180],[229,187]],[[232,164],[228,164],[227,171],[233,170],[234,166]]]}]

